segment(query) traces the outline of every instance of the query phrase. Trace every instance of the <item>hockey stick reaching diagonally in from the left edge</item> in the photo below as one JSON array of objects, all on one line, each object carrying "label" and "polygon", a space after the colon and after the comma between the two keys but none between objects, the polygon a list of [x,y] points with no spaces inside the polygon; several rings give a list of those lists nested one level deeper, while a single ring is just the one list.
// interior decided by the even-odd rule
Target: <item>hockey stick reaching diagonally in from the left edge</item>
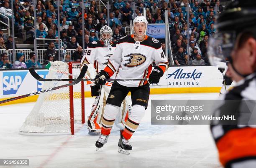
[{"label": "hockey stick reaching diagonally in from the left edge", "polygon": [[35,92],[35,93],[28,93],[26,95],[17,96],[15,98],[9,98],[9,99],[6,99],[6,100],[2,100],[2,101],[0,101],[0,104],[7,103],[7,102],[13,101],[13,100],[18,100],[18,99],[21,99],[21,98],[26,98],[26,97],[29,97],[29,96],[32,96],[32,95],[38,95],[38,94],[41,94],[41,93],[46,93],[46,92],[49,92],[49,91],[52,91],[52,90],[57,90],[57,89],[64,88],[64,87],[67,87],[67,86],[75,85],[75,84],[79,83],[82,78],[84,78],[84,75],[87,71],[87,68],[88,68],[87,66],[84,66],[82,68],[81,73],[79,74],[78,78],[76,80],[74,80],[74,82],[72,82],[72,83],[56,86],[54,88],[48,88],[48,89],[41,90],[41,91],[38,91],[38,92]]}]

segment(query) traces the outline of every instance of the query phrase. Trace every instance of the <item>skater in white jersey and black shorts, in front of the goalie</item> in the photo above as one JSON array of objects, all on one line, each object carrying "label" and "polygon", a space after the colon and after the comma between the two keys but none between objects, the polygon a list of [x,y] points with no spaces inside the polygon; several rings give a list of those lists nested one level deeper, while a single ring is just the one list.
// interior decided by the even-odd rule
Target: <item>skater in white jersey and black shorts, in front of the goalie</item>
[{"label": "skater in white jersey and black shorts, in front of the goalie", "polygon": [[[145,35],[147,25],[145,17],[136,17],[133,20],[135,33],[118,41],[115,53],[108,59],[108,65],[96,75],[96,82],[101,85],[105,84],[104,79],[110,78],[116,71],[118,79],[148,78],[148,81],[123,80],[113,83],[102,118],[101,134],[95,144],[97,149],[107,142],[118,109],[128,92],[131,91],[132,110],[118,142],[118,152],[129,154],[129,150],[132,150],[129,139],[138,128],[148,106],[149,83],[159,83],[168,68],[168,60],[161,48],[161,43]],[[157,66],[152,70],[154,60]]]}]

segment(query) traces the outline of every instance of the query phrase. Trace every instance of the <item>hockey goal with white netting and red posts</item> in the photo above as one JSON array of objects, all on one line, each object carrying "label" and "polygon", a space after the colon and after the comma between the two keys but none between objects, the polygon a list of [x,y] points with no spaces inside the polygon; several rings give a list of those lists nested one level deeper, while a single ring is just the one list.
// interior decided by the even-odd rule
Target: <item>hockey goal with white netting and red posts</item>
[{"label": "hockey goal with white netting and red posts", "polygon": [[[74,78],[62,72],[79,75],[79,63],[55,61],[46,79]],[[70,81],[71,82],[71,81]],[[64,85],[69,81],[44,82],[42,90]],[[31,113],[20,128],[22,133],[71,133],[74,134],[74,123],[84,123],[84,85],[77,85],[53,90],[39,95]]]}]

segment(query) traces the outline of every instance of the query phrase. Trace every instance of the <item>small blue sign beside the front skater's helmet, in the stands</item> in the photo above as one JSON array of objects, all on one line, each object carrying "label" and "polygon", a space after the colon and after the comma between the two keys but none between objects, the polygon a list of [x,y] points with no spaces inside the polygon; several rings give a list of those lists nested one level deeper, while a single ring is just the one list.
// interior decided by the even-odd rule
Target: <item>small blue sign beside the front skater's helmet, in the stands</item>
[{"label": "small blue sign beside the front skater's helmet, in the stands", "polygon": [[156,38],[161,39],[165,38],[165,30],[164,30],[164,23],[161,24],[148,24],[148,30],[147,35]]}]

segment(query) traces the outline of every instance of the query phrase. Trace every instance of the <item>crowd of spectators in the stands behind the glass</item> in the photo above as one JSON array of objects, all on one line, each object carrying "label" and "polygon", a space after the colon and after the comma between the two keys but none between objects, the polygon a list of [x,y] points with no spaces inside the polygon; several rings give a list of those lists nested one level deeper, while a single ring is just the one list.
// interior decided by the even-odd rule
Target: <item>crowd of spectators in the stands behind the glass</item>
[{"label": "crowd of spectators in the stands behind the glass", "polygon": [[[84,18],[84,46],[87,48],[89,42],[100,39],[100,28],[107,25],[107,9],[99,10],[95,0],[83,0],[85,4],[84,16],[82,16],[81,1],[60,0],[58,17],[56,0],[37,0],[36,9],[33,8],[33,0],[14,0],[14,28],[15,37],[22,38],[22,31],[25,31],[26,40],[24,43],[33,44],[34,31],[36,29],[36,38],[53,39],[45,40],[47,50],[44,54],[44,63],[58,59],[58,44],[56,40],[60,35],[61,49],[75,49],[72,55],[66,54],[64,62],[69,60],[79,61],[82,58],[82,17]],[[202,2],[201,2],[202,1]],[[164,23],[165,10],[168,11],[169,32],[171,36],[172,53],[176,65],[187,65],[189,55],[190,64],[204,65],[209,64],[207,60],[208,38],[215,33],[215,16],[223,11],[219,0],[197,0],[174,1],[169,0],[112,0],[110,10],[110,27],[113,30],[113,40],[118,41],[125,36],[125,26],[130,25],[130,21],[136,16],[142,15],[143,8],[146,8],[146,19],[148,23]],[[103,0],[106,2],[106,0]],[[133,13],[131,3],[136,2],[136,10]],[[189,16],[186,7],[189,5]],[[218,6],[218,12],[215,12],[215,5]],[[36,10],[36,16],[34,15]],[[10,9],[10,0],[1,0],[0,13],[7,16],[10,21],[12,10]],[[5,23],[6,18],[0,17]],[[58,27],[58,18],[60,18],[60,27]],[[187,25],[189,18],[189,25]],[[36,19],[36,25],[34,20]],[[4,27],[3,27],[4,28]],[[189,39],[187,39],[187,30],[189,30]],[[13,37],[7,37],[0,29],[0,49],[12,49]],[[39,43],[39,42],[38,42]],[[187,52],[187,43],[190,48]],[[165,46],[165,44],[164,44]],[[168,51],[170,52],[170,51]],[[9,62],[4,60],[1,55],[0,68],[3,64]],[[30,55],[30,62],[24,61],[23,56],[16,54],[16,67],[28,68],[33,66],[33,53]],[[4,65],[4,66],[5,66]],[[10,66],[6,66],[10,67]]]}]

